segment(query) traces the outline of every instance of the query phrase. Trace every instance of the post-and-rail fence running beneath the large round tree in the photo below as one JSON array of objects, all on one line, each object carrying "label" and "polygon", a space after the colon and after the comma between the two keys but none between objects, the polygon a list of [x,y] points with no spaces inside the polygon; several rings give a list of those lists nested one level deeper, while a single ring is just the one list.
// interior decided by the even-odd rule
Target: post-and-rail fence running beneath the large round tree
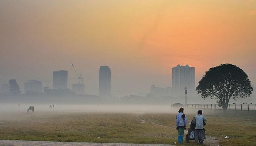
[{"label": "post-and-rail fence running beneath the large round tree", "polygon": [[[186,108],[196,108],[196,109],[207,109],[211,112],[222,111],[222,107],[219,107],[219,104],[187,104],[184,105]],[[228,111],[234,111],[235,114],[246,114],[250,115],[250,112],[256,111],[256,104],[228,104]]]}]

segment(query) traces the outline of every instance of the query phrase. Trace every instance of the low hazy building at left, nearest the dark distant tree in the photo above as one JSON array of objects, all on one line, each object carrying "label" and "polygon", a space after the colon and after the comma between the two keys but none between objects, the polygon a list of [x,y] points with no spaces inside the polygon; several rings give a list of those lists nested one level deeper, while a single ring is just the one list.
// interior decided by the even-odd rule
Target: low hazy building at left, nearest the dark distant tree
[{"label": "low hazy building at left, nearest the dark distant tree", "polygon": [[25,93],[27,91],[42,93],[42,89],[43,89],[42,82],[37,80],[29,80],[29,82],[25,82],[25,85],[24,85]]}]

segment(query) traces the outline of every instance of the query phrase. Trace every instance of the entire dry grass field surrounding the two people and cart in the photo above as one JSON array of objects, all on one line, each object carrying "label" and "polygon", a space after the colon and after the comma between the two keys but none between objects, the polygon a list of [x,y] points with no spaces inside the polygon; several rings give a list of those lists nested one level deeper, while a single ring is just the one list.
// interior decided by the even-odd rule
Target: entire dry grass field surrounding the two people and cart
[{"label": "entire dry grass field surrounding the two people and cart", "polygon": [[[136,116],[138,114],[84,112],[1,114],[0,139],[158,144],[172,144],[177,141],[175,114],[139,115],[139,118],[149,123],[140,123]],[[193,115],[187,117],[191,120]],[[255,119],[210,115],[206,118],[206,134],[217,137],[219,145],[256,145],[256,137],[252,137],[256,135]],[[225,136],[230,139],[224,139]],[[191,141],[184,145],[193,144]]]}]

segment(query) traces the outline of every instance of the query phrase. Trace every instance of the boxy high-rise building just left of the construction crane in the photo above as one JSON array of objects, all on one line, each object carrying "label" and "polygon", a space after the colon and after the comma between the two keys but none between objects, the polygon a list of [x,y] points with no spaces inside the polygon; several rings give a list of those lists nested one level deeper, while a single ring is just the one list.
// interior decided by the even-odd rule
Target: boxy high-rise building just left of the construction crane
[{"label": "boxy high-rise building just left of the construction crane", "polygon": [[53,89],[67,89],[68,88],[68,71],[58,70],[53,72]]}]

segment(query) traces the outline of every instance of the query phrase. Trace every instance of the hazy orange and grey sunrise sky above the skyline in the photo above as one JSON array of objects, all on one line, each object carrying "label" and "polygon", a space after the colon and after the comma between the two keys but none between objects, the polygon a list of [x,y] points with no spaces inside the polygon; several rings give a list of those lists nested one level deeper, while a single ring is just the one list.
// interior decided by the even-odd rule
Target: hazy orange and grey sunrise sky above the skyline
[{"label": "hazy orange and grey sunrise sky above the skyline", "polygon": [[145,95],[171,87],[172,67],[195,67],[196,85],[211,67],[230,63],[256,85],[255,0],[1,0],[0,84],[83,73],[98,95],[108,65],[112,95]]}]

